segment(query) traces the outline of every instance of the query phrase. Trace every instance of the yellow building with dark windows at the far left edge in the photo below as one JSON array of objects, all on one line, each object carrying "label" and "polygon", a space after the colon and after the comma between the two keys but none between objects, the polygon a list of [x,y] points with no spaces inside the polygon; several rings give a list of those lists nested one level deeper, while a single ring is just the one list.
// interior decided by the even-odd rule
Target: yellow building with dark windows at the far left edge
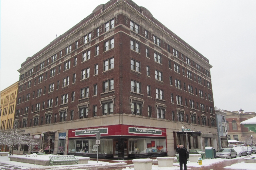
[{"label": "yellow building with dark windows at the far left edge", "polygon": [[[18,90],[18,81],[1,91],[1,111],[0,127],[1,130],[12,129],[14,122],[14,113],[16,108],[16,97]],[[1,151],[8,152],[9,147],[1,145]]]}]

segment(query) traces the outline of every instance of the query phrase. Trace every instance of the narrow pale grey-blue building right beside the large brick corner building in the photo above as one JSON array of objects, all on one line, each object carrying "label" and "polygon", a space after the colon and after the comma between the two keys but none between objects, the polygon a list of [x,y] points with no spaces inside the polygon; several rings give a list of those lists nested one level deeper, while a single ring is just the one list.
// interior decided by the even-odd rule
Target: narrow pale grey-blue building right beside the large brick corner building
[{"label": "narrow pale grey-blue building right beside the large brick corner building", "polygon": [[215,114],[216,114],[216,125],[218,129],[218,150],[220,148],[227,148],[227,124],[225,116],[227,113],[220,108],[215,107]]}]

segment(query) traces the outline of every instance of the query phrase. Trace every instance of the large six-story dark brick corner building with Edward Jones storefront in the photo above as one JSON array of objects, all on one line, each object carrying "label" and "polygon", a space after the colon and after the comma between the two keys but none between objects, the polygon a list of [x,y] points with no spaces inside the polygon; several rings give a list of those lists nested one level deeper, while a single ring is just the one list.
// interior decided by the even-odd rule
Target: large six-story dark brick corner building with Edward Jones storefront
[{"label": "large six-story dark brick corner building with Edward Jones storefront", "polygon": [[217,148],[211,67],[146,8],[101,4],[21,64],[15,125],[42,141],[25,153],[95,157],[97,132],[104,158]]}]

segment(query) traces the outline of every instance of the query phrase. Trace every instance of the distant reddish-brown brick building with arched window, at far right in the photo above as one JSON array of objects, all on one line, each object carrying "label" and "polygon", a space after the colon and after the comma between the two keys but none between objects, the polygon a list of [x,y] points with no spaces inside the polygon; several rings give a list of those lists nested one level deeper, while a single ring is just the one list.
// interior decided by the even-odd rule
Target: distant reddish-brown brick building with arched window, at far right
[{"label": "distant reddish-brown brick building with arched window, at far right", "polygon": [[243,141],[246,138],[250,139],[251,135],[253,135],[253,138],[256,138],[256,134],[253,131],[249,131],[247,127],[240,124],[244,120],[255,117],[255,112],[243,112],[242,109],[233,112],[225,110],[225,112],[227,113],[226,123],[229,139]]}]

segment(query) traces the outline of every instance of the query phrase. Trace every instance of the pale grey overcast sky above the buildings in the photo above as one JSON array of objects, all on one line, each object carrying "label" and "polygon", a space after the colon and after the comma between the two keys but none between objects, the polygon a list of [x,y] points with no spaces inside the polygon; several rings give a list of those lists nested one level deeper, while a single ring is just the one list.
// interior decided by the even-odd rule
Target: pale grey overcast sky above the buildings
[{"label": "pale grey overcast sky above the buildings", "polygon": [[[29,56],[107,0],[1,0],[1,90]],[[209,59],[214,103],[256,112],[255,0],[134,0]]]}]

